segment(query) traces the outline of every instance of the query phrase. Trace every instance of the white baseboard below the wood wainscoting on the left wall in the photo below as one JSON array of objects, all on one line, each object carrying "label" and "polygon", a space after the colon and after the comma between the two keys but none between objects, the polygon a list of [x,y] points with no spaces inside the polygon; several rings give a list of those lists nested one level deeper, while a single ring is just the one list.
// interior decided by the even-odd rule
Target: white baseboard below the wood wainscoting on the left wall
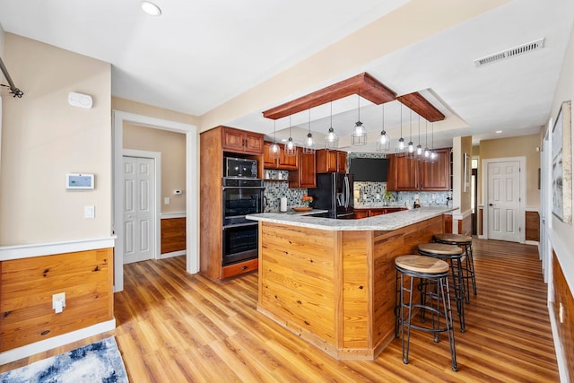
[{"label": "white baseboard below the wood wainscoting on the left wall", "polygon": [[27,358],[36,353],[43,353],[65,344],[71,344],[93,335],[105,333],[106,331],[111,331],[114,328],[116,328],[116,318],[113,318],[107,322],[97,323],[80,330],[75,330],[70,333],[57,335],[53,338],[49,338],[33,344],[26,344],[22,347],[14,348],[13,350],[8,350],[4,353],[0,353],[0,365],[10,363],[11,361],[18,361],[19,359]]}]

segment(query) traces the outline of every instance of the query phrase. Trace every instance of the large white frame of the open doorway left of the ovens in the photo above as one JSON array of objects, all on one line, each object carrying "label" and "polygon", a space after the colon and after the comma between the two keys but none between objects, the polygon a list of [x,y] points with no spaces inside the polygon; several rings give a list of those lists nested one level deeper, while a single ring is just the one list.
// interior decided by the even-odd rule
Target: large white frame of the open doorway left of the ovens
[{"label": "large white frame of the open doorway left of the ovens", "polygon": [[[199,140],[197,138],[197,126],[112,110],[112,174],[114,178],[112,188],[114,211],[112,213],[111,227],[117,237],[114,251],[114,292],[124,290],[124,233],[121,223],[116,225],[115,222],[123,222],[124,186],[122,178],[124,176],[123,172],[119,170],[122,166],[124,154],[123,129],[125,122],[186,135],[186,270],[190,274],[195,274],[199,271]],[[161,201],[161,198],[159,201]]]}]

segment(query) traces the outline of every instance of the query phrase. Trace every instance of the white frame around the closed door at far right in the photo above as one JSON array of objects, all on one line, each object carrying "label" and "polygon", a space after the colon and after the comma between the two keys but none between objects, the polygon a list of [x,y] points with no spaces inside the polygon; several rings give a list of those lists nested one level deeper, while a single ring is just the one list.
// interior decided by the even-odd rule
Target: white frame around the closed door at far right
[{"label": "white frame around the closed door at far right", "polygon": [[518,161],[520,164],[520,203],[518,204],[518,220],[520,225],[520,243],[526,242],[526,157],[489,158],[483,160],[483,235],[488,239],[488,165],[495,162]]}]

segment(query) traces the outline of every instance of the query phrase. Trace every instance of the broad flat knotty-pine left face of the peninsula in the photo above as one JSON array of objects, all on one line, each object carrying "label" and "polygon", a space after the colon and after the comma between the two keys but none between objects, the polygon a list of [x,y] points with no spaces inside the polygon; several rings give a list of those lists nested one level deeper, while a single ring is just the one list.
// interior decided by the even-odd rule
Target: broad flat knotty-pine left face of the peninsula
[{"label": "broad flat knotty-pine left face of the peninsula", "polygon": [[262,266],[257,309],[309,342],[317,340],[319,348],[331,353],[335,348],[337,231],[259,224]]}]

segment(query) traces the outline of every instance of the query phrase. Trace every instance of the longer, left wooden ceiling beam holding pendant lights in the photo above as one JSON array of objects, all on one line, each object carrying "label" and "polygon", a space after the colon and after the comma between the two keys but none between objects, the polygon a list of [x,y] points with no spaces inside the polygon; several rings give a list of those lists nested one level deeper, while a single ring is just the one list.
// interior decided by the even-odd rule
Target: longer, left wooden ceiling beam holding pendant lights
[{"label": "longer, left wooden ceiling beam holding pendant lights", "polygon": [[352,94],[359,94],[362,98],[370,100],[372,103],[380,105],[396,99],[396,93],[388,89],[377,79],[368,73],[357,74],[334,83],[319,91],[314,91],[299,99],[285,102],[272,109],[265,110],[263,117],[278,119],[294,115],[300,111],[324,105],[332,100],[343,99]]}]

